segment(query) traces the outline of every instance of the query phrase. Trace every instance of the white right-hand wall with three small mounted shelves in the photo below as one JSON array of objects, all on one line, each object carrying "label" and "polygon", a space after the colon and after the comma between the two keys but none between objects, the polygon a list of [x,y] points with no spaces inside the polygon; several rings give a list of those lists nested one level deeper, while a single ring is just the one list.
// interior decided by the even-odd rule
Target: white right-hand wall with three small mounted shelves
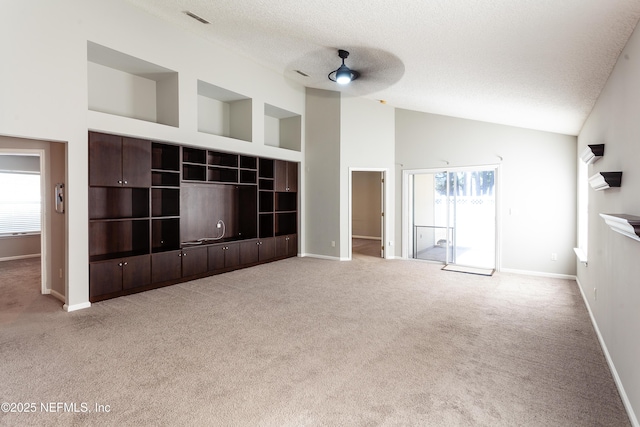
[{"label": "white right-hand wall with three small mounted shelves", "polygon": [[578,152],[589,144],[605,144],[604,157],[589,166],[589,176],[623,172],[620,188],[589,189],[588,264],[578,263],[577,276],[635,425],[640,425],[640,242],[613,232],[599,213],[640,216],[638,76],[636,28],[578,136]]}]

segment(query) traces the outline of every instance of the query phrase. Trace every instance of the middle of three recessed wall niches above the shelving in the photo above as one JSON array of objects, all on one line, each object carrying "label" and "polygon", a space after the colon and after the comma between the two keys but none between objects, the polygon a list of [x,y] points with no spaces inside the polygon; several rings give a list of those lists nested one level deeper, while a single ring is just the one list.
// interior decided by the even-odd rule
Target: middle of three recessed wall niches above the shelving
[{"label": "middle of three recessed wall niches above the shelving", "polygon": [[251,98],[198,80],[199,132],[251,142],[251,110]]}]

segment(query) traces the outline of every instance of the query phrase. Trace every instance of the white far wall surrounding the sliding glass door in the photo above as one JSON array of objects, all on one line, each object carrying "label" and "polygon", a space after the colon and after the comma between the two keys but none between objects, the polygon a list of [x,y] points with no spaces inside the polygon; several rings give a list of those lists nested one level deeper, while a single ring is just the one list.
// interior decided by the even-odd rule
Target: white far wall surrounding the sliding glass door
[{"label": "white far wall surrounding the sliding glass door", "polygon": [[[499,164],[501,268],[572,276],[575,159],[574,136],[397,109],[396,215],[403,169]],[[397,245],[400,225],[396,221]]]}]

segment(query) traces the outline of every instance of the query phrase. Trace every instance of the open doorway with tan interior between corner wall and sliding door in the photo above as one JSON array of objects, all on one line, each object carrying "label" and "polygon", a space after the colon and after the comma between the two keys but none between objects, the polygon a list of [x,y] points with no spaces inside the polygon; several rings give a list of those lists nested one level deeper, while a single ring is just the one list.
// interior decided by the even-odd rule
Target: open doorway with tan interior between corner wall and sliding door
[{"label": "open doorway with tan interior between corner wall and sliding door", "polygon": [[385,258],[383,169],[351,170],[349,258]]}]

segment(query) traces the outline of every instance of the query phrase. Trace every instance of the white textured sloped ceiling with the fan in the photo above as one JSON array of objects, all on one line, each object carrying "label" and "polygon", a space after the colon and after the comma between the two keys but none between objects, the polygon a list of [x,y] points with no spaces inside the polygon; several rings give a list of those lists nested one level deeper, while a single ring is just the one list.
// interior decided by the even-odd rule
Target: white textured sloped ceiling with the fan
[{"label": "white textured sloped ceiling with the fan", "polygon": [[346,49],[345,95],[570,135],[640,18],[639,0],[127,1],[305,86],[340,90]]}]

